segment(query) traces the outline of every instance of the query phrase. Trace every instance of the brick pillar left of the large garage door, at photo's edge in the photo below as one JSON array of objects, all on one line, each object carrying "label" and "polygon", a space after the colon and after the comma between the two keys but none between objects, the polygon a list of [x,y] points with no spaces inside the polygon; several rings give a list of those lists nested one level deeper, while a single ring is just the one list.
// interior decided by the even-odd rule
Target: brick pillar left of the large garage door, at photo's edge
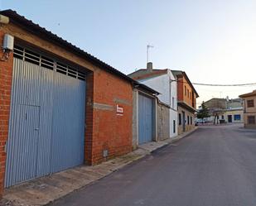
[{"label": "brick pillar left of the large garage door, at photo's edge", "polygon": [[[0,31],[0,58],[2,58],[2,41],[4,33]],[[12,90],[13,55],[7,61],[0,60],[0,197],[4,187],[6,152],[4,147],[8,137],[9,115]]]}]

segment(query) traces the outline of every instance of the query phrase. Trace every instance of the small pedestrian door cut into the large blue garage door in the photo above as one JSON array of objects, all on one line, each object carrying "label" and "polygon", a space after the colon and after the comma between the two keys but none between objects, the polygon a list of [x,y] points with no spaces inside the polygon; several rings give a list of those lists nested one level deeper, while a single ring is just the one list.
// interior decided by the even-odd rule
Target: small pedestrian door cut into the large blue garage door
[{"label": "small pedestrian door cut into the large blue garage door", "polygon": [[21,182],[36,177],[40,107],[19,104],[16,110],[18,123],[11,135],[18,138],[10,139],[8,146],[16,148],[12,150],[12,156],[16,158],[12,160],[12,170],[23,172],[8,176],[9,182]]}]

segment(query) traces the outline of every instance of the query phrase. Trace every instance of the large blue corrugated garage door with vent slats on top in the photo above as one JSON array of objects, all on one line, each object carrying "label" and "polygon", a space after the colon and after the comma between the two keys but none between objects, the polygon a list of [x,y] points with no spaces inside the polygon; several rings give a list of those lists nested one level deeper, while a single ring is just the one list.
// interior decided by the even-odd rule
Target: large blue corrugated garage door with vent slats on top
[{"label": "large blue corrugated garage door with vent slats on top", "polygon": [[85,74],[16,47],[5,187],[84,161]]}]

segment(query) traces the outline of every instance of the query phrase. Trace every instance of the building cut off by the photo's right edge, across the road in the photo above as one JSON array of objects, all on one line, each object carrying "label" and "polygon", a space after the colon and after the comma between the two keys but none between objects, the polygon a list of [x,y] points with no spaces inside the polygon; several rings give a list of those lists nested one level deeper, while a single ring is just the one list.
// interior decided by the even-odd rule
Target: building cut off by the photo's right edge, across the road
[{"label": "building cut off by the photo's right edge, across the road", "polygon": [[244,127],[256,128],[256,90],[239,98],[244,100]]}]

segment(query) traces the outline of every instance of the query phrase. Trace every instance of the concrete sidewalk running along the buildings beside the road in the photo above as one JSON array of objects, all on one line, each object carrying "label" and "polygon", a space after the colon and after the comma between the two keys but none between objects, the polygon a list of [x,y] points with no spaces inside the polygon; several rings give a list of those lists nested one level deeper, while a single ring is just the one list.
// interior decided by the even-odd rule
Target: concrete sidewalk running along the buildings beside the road
[{"label": "concrete sidewalk running along the buildings beside the road", "polygon": [[36,206],[49,204],[66,194],[70,194],[76,189],[80,189],[104,178],[122,168],[124,165],[128,165],[135,160],[141,159],[143,156],[149,155],[152,151],[156,151],[162,146],[167,146],[195,131],[196,128],[191,132],[186,132],[175,138],[143,144],[138,146],[136,151],[130,152],[125,156],[117,157],[113,160],[105,161],[100,165],[81,165],[53,175],[12,186],[10,189],[5,190],[0,205]]}]

